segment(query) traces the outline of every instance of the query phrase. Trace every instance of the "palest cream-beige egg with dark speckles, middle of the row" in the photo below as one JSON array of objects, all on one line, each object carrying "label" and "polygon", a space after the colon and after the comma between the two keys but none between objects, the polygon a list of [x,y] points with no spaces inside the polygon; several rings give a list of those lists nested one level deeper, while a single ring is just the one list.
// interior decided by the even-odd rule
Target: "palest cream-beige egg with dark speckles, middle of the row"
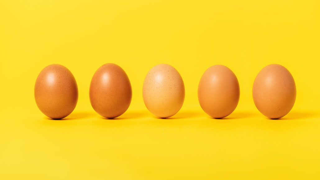
[{"label": "palest cream-beige egg with dark speckles, middle of the row", "polygon": [[144,79],[142,97],[147,109],[155,116],[173,116],[182,107],[185,97],[181,75],[168,64],[152,67]]}]

